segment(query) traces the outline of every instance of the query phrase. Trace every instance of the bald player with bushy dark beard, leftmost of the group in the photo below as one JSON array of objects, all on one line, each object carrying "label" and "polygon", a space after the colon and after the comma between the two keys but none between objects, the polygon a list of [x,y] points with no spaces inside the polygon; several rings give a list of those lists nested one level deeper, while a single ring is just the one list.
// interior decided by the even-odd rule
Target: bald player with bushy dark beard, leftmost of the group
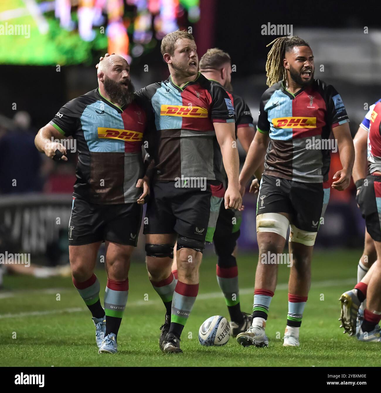
[{"label": "bald player with bushy dark beard, leftmost of the group", "polygon": [[[153,112],[133,94],[129,64],[122,56],[109,56],[97,68],[99,87],[65,104],[38,131],[35,144],[53,160],[67,161],[63,145],[52,140],[72,136],[77,141],[77,181],[69,221],[71,274],[93,316],[99,353],[116,353],[128,297],[129,262],[148,193],[142,143]],[[94,274],[103,241],[108,275],[104,309]]]}]

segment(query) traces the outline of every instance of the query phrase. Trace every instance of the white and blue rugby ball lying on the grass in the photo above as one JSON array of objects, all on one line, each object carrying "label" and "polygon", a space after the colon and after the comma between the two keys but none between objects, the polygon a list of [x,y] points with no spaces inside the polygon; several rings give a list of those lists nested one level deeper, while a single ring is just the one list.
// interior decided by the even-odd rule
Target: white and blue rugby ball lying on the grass
[{"label": "white and blue rugby ball lying on the grass", "polygon": [[208,318],[199,330],[199,342],[201,345],[225,345],[230,338],[230,325],[226,318],[215,315]]}]

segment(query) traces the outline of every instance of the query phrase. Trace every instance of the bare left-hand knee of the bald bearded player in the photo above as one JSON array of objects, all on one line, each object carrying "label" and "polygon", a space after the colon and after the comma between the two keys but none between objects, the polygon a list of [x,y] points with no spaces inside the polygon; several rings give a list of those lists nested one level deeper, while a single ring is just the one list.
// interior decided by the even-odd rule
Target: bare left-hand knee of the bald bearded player
[{"label": "bare left-hand knee of the bald bearded player", "polygon": [[71,275],[78,283],[87,281],[93,275],[100,243],[69,246]]}]

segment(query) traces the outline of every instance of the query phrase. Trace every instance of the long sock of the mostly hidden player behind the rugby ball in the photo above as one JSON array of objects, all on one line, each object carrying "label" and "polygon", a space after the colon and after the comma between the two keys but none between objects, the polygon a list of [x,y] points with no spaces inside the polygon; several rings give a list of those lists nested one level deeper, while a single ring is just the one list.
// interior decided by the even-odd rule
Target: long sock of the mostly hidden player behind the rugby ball
[{"label": "long sock of the mostly hidden player behind the rugby ball", "polygon": [[241,305],[239,304],[238,267],[233,255],[229,255],[232,266],[221,267],[216,265],[217,282],[225,297],[230,320],[238,324],[243,322]]}]

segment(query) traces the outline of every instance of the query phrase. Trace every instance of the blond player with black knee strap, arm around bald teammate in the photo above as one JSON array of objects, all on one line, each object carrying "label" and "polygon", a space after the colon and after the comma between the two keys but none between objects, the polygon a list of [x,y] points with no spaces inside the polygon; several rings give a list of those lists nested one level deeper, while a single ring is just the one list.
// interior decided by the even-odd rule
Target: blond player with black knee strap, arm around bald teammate
[{"label": "blond player with black knee strap, arm around bald teammate", "polygon": [[[221,201],[225,209],[238,209],[242,198],[230,97],[198,72],[191,34],[169,33],[160,49],[170,77],[137,92],[151,103],[157,128],[144,233],[149,279],[166,307],[160,348],[179,353],[180,335],[199,290],[202,252],[213,239]],[[221,154],[229,180],[226,192]],[[171,272],[176,240],[177,283]]]}]

